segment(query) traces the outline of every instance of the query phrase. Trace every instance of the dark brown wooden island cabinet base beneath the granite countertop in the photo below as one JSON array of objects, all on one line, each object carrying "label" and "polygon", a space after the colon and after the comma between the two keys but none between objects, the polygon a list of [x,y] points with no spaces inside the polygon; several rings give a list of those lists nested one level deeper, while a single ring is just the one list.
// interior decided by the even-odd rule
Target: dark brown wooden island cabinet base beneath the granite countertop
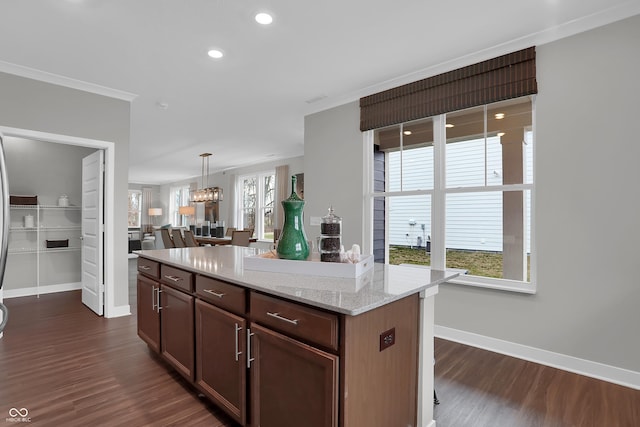
[{"label": "dark brown wooden island cabinet base beneath the granite countertop", "polygon": [[145,258],[138,271],[138,335],[239,425],[416,425],[418,294],[348,316]]}]

